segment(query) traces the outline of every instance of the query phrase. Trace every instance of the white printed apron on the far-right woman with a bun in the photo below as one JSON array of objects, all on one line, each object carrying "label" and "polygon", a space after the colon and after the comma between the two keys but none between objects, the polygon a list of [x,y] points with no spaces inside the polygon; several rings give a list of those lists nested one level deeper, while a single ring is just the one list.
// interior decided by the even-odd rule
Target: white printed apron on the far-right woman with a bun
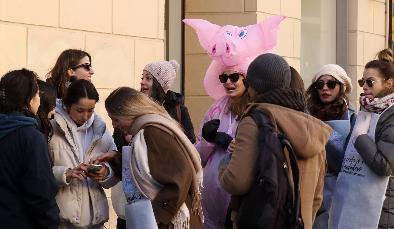
[{"label": "white printed apron on the far-right woman with a bun", "polygon": [[[361,117],[366,113],[372,115],[367,134],[375,141],[375,128],[380,115],[359,111],[358,116]],[[390,176],[378,176],[370,170],[354,148],[354,142],[351,133],[341,172],[336,180],[329,212],[330,229],[377,228],[383,201],[386,198]]]}]

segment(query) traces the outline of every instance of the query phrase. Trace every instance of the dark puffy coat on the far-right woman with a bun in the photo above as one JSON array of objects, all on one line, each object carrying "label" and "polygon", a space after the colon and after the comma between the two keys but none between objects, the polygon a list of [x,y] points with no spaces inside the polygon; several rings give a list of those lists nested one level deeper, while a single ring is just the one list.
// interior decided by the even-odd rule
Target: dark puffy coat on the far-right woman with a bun
[{"label": "dark puffy coat on the far-right woman with a bun", "polygon": [[[394,175],[394,106],[388,108],[379,117],[375,129],[375,142],[368,135],[363,134],[357,137],[354,147],[364,163],[377,175]],[[394,228],[394,177],[392,176],[388,180],[378,228]]]}]

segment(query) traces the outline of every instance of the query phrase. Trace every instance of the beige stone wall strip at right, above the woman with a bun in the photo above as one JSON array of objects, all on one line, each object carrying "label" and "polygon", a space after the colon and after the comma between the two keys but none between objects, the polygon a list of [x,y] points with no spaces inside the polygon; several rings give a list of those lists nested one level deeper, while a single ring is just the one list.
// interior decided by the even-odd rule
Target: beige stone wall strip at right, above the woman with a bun
[{"label": "beige stone wall strip at right, above the woman with a bun", "polygon": [[348,0],[348,76],[353,84],[349,99],[359,107],[363,92],[357,80],[364,66],[385,48],[385,0]]}]

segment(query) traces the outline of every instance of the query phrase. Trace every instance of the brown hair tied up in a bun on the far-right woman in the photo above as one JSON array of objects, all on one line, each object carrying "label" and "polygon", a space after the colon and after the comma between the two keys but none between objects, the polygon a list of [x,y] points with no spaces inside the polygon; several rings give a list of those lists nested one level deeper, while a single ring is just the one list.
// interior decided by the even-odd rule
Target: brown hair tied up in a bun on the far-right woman
[{"label": "brown hair tied up in a bun on the far-right woman", "polygon": [[383,79],[394,79],[394,59],[393,51],[389,48],[378,52],[377,60],[368,62],[366,68],[377,68]]}]

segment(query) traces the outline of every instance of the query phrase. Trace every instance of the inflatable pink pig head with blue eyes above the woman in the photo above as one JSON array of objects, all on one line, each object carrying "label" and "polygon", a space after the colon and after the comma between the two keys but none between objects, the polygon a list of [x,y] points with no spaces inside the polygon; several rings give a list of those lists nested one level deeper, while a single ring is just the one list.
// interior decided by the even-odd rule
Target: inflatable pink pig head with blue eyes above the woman
[{"label": "inflatable pink pig head with blue eyes above the woman", "polygon": [[[277,44],[279,24],[284,18],[286,17],[283,15],[275,15],[259,24],[242,28],[221,27],[202,19],[182,20],[196,30],[201,46],[214,59],[204,79],[204,87],[209,96],[218,100],[226,94],[218,77],[224,71],[234,70],[246,77],[247,67],[258,55],[276,53],[274,47]],[[219,88],[222,90],[218,90]]]}]

